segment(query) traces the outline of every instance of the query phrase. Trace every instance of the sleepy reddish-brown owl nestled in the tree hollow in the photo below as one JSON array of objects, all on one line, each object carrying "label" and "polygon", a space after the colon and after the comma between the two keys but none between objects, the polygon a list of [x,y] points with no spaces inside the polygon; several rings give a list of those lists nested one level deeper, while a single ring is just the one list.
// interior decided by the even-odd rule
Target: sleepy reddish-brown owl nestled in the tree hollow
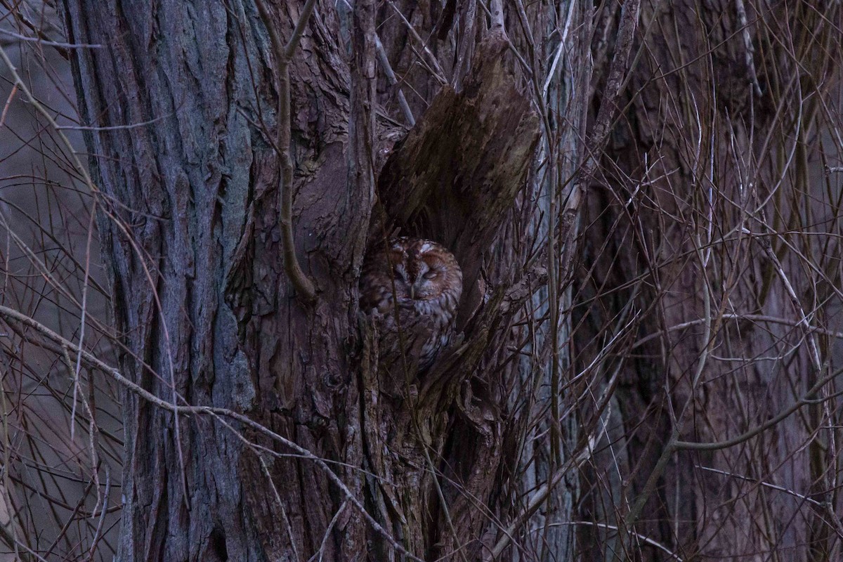
[{"label": "sleepy reddish-brown owl nestled in the tree hollow", "polygon": [[[381,347],[389,355],[430,367],[448,345],[463,291],[463,272],[454,254],[423,238],[393,238],[363,263],[360,308],[379,313]],[[395,303],[398,313],[395,313]]]}]

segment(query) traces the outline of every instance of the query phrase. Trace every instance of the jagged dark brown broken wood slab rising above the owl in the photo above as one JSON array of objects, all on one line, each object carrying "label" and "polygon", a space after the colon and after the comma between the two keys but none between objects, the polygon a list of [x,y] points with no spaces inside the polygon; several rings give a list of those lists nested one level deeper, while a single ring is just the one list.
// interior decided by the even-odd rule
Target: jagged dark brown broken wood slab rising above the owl
[{"label": "jagged dark brown broken wood slab rising above the owl", "polygon": [[385,224],[373,222],[370,239],[400,228],[451,249],[463,270],[460,309],[479,297],[482,255],[524,186],[539,140],[539,118],[503,66],[506,50],[506,37],[490,33],[464,88],[442,88],[379,177]]}]

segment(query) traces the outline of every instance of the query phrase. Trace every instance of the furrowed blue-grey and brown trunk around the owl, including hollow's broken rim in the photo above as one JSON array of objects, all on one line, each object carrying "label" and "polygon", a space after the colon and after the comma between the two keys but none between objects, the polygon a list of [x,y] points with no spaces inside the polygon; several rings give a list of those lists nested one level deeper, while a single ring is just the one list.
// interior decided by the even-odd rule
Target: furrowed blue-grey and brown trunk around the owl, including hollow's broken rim
[{"label": "furrowed blue-grey and brown trunk around the owl, including hollow's broken rim", "polygon": [[[271,4],[282,39],[301,5]],[[476,559],[486,511],[498,508],[507,396],[494,351],[544,282],[526,269],[529,249],[487,262],[513,223],[538,136],[502,65],[506,39],[481,37],[463,88],[442,88],[392,153],[369,228],[378,155],[395,142],[395,127],[375,129],[374,4],[318,4],[290,66],[293,230],[311,304],[283,275],[277,93],[255,5],[64,6],[69,40],[106,45],[72,63],[85,124],[103,127],[85,140],[121,370],[170,402],[244,412],[330,461],[126,393],[119,559],[380,560],[396,549]],[[526,197],[518,212],[532,205]],[[379,372],[393,367],[379,365],[357,311],[367,240],[394,228],[454,249],[471,289],[461,345],[403,398],[382,388]]]}]

